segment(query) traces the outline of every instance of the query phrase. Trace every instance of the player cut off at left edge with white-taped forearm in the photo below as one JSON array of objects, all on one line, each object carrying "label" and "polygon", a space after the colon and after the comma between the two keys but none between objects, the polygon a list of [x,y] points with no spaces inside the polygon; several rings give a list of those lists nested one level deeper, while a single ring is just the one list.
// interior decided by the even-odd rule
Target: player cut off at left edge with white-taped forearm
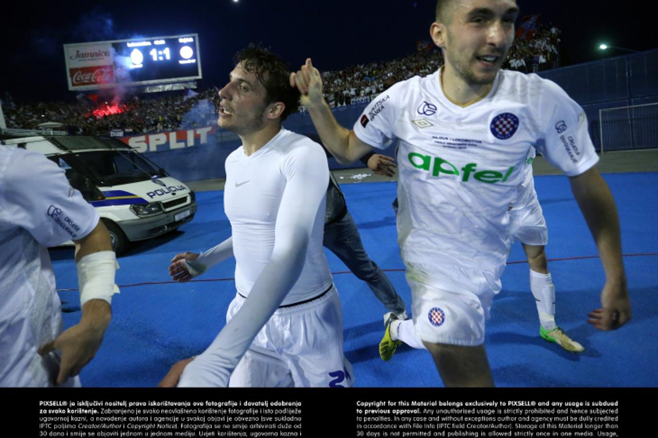
[{"label": "player cut off at left edge with white-taped forearm", "polygon": [[[49,246],[73,240],[80,322],[62,332]],[[116,256],[98,213],[40,153],[0,145],[0,387],[80,386],[111,319]]]}]

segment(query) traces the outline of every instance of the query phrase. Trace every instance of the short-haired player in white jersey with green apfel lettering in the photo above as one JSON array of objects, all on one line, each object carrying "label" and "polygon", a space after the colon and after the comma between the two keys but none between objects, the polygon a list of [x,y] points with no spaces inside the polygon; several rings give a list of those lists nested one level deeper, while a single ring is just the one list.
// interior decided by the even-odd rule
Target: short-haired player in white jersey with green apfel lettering
[{"label": "short-haired player in white jersey with green apfel lettering", "polygon": [[[569,176],[599,249],[605,285],[589,322],[609,330],[630,319],[617,209],[584,112],[553,82],[500,70],[518,13],[514,0],[439,0],[430,35],[445,66],[384,91],[353,130],[336,122],[310,59],[290,78],[340,162],[399,139],[397,229],[413,322],[447,386],[493,386],[484,320],[531,147]],[[382,347],[390,353],[395,342]]]}]

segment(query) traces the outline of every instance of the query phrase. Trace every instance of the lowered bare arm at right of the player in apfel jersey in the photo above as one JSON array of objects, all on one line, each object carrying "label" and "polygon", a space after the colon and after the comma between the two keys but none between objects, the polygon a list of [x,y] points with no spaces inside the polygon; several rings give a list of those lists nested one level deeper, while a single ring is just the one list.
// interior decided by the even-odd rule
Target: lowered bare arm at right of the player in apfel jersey
[{"label": "lowered bare arm at right of the player in apfel jersey", "polygon": [[618,329],[630,320],[631,312],[615,199],[596,168],[571,177],[570,182],[605,269],[601,308],[590,313],[588,322],[605,331]]}]

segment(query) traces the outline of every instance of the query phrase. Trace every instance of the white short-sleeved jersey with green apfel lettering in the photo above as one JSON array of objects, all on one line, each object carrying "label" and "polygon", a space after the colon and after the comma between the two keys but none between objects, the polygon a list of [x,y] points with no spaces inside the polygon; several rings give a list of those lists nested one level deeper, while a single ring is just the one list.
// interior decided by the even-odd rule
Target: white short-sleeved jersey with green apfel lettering
[{"label": "white short-sleeved jersey with green apfel lettering", "polygon": [[407,262],[499,268],[530,149],[569,176],[598,161],[580,106],[549,80],[507,70],[467,107],[447,99],[440,70],[399,82],[368,105],[354,131],[380,149],[399,139],[397,228]]}]

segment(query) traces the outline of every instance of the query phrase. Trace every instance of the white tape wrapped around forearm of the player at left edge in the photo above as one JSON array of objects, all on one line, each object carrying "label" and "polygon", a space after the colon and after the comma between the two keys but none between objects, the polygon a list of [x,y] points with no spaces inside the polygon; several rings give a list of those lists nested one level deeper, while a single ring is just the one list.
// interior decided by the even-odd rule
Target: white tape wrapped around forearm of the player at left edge
[{"label": "white tape wrapped around forearm of the player at left edge", "polygon": [[77,268],[81,307],[93,299],[112,304],[112,295],[119,293],[119,288],[114,284],[118,267],[114,251],[99,251],[80,259]]}]

